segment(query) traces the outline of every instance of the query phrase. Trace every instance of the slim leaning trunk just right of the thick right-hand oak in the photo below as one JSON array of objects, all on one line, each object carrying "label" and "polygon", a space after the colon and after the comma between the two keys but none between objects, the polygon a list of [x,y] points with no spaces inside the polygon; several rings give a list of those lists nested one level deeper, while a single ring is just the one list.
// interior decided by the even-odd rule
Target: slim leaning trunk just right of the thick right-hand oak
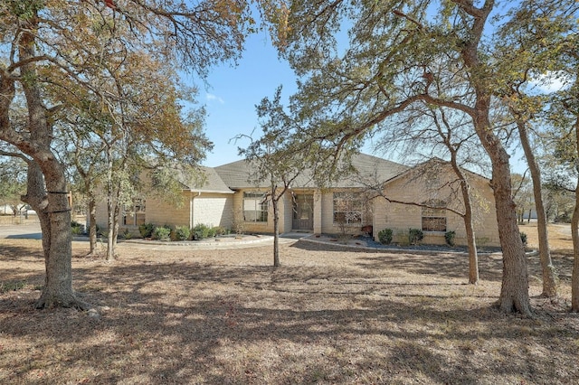
[{"label": "slim leaning trunk just right of the thick right-hand oak", "polygon": [[[546,211],[543,204],[543,186],[541,184],[541,171],[536,163],[535,154],[529,143],[527,127],[524,122],[517,121],[518,135],[521,139],[521,145],[527,158],[527,164],[533,181],[533,194],[536,206],[536,229],[539,240],[539,258],[541,261],[541,270],[543,273],[543,293],[542,296],[555,298],[557,296],[557,286],[555,283],[555,268],[551,260],[551,249],[549,248],[548,232],[546,228]],[[531,211],[528,215],[529,221]]]}]

